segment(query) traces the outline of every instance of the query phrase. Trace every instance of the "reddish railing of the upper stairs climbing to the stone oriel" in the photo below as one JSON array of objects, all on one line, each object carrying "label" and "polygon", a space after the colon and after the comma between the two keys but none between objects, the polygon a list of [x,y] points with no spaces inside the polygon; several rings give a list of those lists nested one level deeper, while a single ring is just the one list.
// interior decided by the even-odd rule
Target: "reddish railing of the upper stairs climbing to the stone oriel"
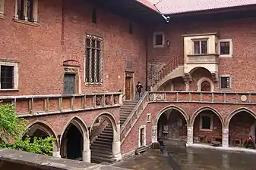
[{"label": "reddish railing of the upper stairs climbing to the stone oriel", "polygon": [[175,68],[177,68],[179,65],[183,63],[183,57],[172,57],[169,63],[163,66],[163,68],[160,71],[158,71],[152,76],[150,87],[156,85],[158,82],[160,82],[161,79],[163,79],[165,76],[167,76],[169,73],[175,70]]}]

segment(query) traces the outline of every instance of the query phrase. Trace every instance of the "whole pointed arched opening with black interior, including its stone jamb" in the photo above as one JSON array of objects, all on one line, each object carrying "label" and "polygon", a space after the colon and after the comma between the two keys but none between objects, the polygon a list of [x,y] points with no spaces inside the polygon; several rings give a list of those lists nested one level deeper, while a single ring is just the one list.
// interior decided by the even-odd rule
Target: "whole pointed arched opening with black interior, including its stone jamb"
[{"label": "whole pointed arched opening with black interior, including its stone jamb", "polygon": [[75,117],[68,122],[61,140],[62,158],[90,162],[88,130],[82,119]]}]

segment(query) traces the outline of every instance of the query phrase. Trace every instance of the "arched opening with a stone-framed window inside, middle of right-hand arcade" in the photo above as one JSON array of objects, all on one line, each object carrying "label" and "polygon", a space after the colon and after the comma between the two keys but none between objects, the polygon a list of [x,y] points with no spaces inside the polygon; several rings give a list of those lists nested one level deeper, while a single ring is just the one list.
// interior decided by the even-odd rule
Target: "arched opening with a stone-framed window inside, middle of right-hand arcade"
[{"label": "arched opening with a stone-framed window inside, middle of right-hand arcade", "polygon": [[222,144],[223,121],[213,110],[202,110],[194,119],[193,142]]}]

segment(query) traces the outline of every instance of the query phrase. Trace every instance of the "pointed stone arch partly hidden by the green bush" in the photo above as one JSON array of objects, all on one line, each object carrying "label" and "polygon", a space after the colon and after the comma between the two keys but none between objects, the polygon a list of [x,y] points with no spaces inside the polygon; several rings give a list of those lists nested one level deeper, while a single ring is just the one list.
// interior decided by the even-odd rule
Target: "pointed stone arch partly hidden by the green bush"
[{"label": "pointed stone arch partly hidden by the green bush", "polygon": [[[48,122],[43,121],[43,120],[35,120],[33,122],[30,122],[27,125],[27,129],[30,129],[33,127],[33,125],[38,125],[40,129],[42,129],[43,131],[45,131],[47,134],[49,134],[49,136],[53,136],[53,138],[57,138],[57,134],[54,130],[54,128],[52,127],[52,125],[49,125]],[[24,135],[24,134],[23,134]]]}]

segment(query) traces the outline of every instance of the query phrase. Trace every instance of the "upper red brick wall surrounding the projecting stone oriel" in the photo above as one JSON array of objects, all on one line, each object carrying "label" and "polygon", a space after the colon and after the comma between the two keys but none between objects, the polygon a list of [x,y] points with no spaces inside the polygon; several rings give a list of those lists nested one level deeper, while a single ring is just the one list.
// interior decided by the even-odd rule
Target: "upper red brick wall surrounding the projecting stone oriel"
[{"label": "upper red brick wall surrounding the projecting stone oriel", "polygon": [[[232,39],[233,42],[233,57],[220,58],[219,75],[231,75],[231,91],[255,91],[256,82],[251,81],[256,73],[254,70],[254,60],[256,59],[255,24],[256,18],[197,20],[197,22],[176,20],[175,23],[165,24],[154,29],[165,32],[165,39],[170,41],[170,45],[169,48],[153,48],[152,42],[150,42],[149,60],[169,63],[173,57],[179,57],[179,60],[182,61],[184,58],[183,34],[218,32],[220,39]],[[149,37],[153,38],[153,32]],[[218,87],[218,84],[216,83],[215,86]],[[193,86],[191,90],[194,90]],[[219,91],[219,88],[214,90]]]}]

